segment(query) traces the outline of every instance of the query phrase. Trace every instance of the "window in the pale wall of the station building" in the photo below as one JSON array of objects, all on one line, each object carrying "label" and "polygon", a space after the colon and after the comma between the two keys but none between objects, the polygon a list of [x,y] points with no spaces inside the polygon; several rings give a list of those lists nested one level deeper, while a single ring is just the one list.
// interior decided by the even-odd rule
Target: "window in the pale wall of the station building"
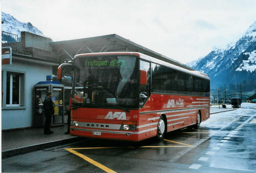
[{"label": "window in the pale wall of the station building", "polygon": [[2,109],[25,108],[25,73],[2,71]]}]

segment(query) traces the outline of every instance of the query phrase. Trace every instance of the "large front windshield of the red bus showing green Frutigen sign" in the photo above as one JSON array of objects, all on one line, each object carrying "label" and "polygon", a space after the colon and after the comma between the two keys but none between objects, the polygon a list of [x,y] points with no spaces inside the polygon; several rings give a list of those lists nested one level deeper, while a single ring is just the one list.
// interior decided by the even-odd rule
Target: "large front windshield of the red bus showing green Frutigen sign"
[{"label": "large front windshield of the red bus showing green Frutigen sign", "polygon": [[73,107],[137,108],[137,58],[93,56],[75,58]]}]

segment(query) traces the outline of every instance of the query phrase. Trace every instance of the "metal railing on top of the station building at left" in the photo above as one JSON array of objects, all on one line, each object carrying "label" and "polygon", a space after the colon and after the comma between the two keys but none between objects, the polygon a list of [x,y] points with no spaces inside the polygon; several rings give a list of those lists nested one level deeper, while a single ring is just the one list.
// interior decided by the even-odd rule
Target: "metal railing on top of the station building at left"
[{"label": "metal railing on top of the station building at left", "polygon": [[21,51],[21,40],[16,34],[2,31],[2,47],[11,47],[12,51]]}]

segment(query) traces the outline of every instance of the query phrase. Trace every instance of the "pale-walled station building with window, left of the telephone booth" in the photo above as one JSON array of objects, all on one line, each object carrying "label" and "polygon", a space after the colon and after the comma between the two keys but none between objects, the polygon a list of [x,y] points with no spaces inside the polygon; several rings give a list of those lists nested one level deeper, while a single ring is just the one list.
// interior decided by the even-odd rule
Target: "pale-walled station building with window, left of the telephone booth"
[{"label": "pale-walled station building with window, left of the telephone booth", "polygon": [[13,50],[11,65],[1,66],[2,130],[33,126],[33,85],[46,81],[46,75],[52,75],[53,67],[59,65],[56,57],[40,54],[50,54],[51,39],[28,32],[22,32],[22,36],[24,39],[26,36],[26,40],[23,39],[23,44],[20,44],[23,48],[16,47],[19,44],[2,44],[2,47],[10,46]]}]

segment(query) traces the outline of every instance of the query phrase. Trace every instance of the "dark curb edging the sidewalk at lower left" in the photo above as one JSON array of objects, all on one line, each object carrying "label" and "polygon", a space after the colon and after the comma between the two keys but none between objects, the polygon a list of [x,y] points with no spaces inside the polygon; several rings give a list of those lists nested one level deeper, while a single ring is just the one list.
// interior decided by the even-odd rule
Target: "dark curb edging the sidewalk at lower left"
[{"label": "dark curb edging the sidewalk at lower left", "polygon": [[68,143],[73,143],[73,142],[80,141],[82,139],[83,139],[82,137],[74,137],[74,138],[70,138],[70,139],[57,140],[57,141],[45,142],[45,143],[36,144],[36,145],[29,145],[26,147],[9,149],[9,150],[2,151],[2,158],[25,154],[25,153],[29,153],[31,151],[42,150],[45,148],[56,147],[56,146],[64,145],[64,144],[68,144]]}]

